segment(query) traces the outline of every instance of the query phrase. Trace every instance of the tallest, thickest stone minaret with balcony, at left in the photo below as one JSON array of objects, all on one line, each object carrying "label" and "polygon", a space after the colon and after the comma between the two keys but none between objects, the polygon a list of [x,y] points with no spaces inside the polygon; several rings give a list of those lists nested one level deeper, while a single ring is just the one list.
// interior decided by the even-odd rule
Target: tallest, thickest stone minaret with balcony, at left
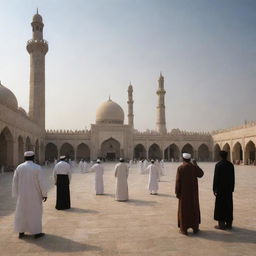
[{"label": "tallest, thickest stone minaret with balcony, at left", "polygon": [[48,43],[43,39],[43,19],[37,13],[31,22],[33,38],[27,42],[30,54],[29,117],[45,129],[45,54]]}]

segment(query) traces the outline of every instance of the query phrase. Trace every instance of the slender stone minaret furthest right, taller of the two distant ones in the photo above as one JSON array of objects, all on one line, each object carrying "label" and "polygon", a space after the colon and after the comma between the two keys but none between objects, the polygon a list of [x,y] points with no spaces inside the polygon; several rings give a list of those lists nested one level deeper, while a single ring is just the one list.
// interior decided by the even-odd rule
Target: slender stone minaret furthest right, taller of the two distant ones
[{"label": "slender stone minaret furthest right, taller of the two distant ones", "polygon": [[166,91],[164,89],[164,77],[160,73],[158,79],[158,90],[156,94],[158,95],[158,105],[156,107],[156,130],[160,134],[166,134],[166,123],[165,123],[165,105],[164,105],[164,95]]}]

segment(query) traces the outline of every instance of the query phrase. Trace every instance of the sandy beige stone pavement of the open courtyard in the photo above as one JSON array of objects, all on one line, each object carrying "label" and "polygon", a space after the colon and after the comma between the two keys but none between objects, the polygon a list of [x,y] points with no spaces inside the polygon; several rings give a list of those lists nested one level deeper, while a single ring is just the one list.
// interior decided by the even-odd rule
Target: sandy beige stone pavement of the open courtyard
[{"label": "sandy beige stone pavement of the open courtyard", "polygon": [[205,171],[199,179],[202,224],[198,235],[183,236],[177,228],[174,195],[178,164],[166,164],[159,195],[149,195],[147,175],[134,165],[129,176],[129,202],[114,200],[113,164],[105,164],[105,192],[94,195],[93,173],[74,173],[71,181],[72,209],[55,210],[55,187],[51,170],[48,200],[44,204],[43,231],[34,240],[18,239],[13,232],[15,200],[11,198],[12,173],[0,175],[0,255],[104,255],[182,256],[256,255],[256,168],[236,166],[234,229],[213,226],[212,163],[199,164]]}]

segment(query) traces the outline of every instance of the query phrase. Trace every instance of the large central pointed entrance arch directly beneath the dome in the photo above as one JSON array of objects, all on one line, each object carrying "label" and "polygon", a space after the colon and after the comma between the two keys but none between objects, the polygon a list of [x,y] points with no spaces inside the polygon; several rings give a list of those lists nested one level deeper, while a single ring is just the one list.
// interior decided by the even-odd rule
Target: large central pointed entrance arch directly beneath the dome
[{"label": "large central pointed entrance arch directly beneath the dome", "polygon": [[119,159],[120,151],[119,141],[113,138],[109,138],[101,144],[101,157],[106,160],[115,161]]}]

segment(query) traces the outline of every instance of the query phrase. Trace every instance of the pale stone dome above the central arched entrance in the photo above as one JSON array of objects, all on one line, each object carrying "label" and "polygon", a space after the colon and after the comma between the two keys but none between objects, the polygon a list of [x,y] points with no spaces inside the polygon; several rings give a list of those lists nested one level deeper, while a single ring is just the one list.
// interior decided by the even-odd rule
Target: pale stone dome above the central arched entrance
[{"label": "pale stone dome above the central arched entrance", "polygon": [[101,104],[96,112],[96,124],[123,124],[124,111],[114,101],[109,99]]}]

